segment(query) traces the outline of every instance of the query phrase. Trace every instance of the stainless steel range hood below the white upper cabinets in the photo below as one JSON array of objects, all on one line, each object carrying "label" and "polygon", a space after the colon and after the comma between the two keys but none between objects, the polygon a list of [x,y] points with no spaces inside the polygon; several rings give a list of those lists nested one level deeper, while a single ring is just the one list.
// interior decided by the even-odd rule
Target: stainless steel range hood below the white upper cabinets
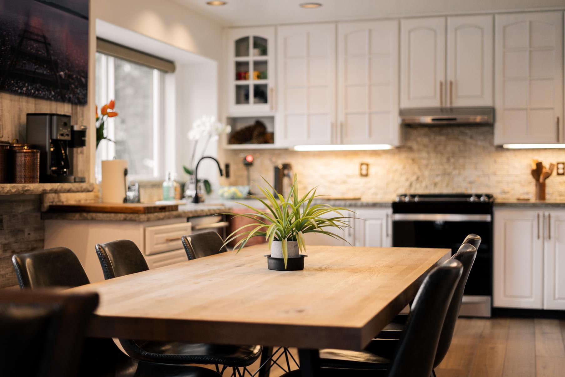
[{"label": "stainless steel range hood below the white upper cabinets", "polygon": [[401,109],[401,124],[406,125],[493,125],[493,107],[428,107]]}]

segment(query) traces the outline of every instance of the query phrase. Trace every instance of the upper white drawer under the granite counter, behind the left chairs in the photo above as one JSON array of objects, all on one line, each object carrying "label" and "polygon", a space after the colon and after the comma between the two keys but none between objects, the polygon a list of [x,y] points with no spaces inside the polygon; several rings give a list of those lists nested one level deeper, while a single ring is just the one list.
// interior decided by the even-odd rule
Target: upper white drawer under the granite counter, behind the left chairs
[{"label": "upper white drawer under the granite counter, behind the left chairs", "polygon": [[182,249],[181,236],[190,234],[190,223],[145,228],[145,255]]}]

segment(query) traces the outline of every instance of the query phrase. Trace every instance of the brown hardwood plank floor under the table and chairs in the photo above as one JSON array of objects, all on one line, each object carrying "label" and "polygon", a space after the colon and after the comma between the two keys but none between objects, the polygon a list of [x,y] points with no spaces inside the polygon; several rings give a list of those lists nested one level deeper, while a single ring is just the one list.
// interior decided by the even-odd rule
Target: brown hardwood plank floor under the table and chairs
[{"label": "brown hardwood plank floor under the table and chairs", "polygon": [[[291,349],[296,355],[295,349]],[[295,356],[296,357],[296,356]],[[256,362],[250,370],[257,370]],[[277,366],[272,377],[284,372]],[[460,318],[437,377],[565,375],[565,320]],[[227,372],[224,376],[229,376]]]}]

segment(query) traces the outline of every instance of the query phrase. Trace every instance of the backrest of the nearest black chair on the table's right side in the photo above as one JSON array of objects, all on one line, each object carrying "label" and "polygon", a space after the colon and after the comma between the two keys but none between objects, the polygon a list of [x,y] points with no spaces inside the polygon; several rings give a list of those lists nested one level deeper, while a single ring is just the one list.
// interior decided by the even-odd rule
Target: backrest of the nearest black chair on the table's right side
[{"label": "backrest of the nearest black chair on the table's right side", "polygon": [[420,286],[402,332],[388,377],[429,377],[447,308],[463,266],[449,259],[434,268]]}]

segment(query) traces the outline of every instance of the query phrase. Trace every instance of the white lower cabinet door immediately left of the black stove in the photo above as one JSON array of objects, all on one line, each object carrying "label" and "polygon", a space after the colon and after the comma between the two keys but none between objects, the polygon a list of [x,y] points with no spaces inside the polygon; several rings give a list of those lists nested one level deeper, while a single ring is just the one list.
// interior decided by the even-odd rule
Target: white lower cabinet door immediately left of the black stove
[{"label": "white lower cabinet door immediately left of the black stove", "polygon": [[392,246],[392,209],[355,210],[355,245],[373,248]]}]

